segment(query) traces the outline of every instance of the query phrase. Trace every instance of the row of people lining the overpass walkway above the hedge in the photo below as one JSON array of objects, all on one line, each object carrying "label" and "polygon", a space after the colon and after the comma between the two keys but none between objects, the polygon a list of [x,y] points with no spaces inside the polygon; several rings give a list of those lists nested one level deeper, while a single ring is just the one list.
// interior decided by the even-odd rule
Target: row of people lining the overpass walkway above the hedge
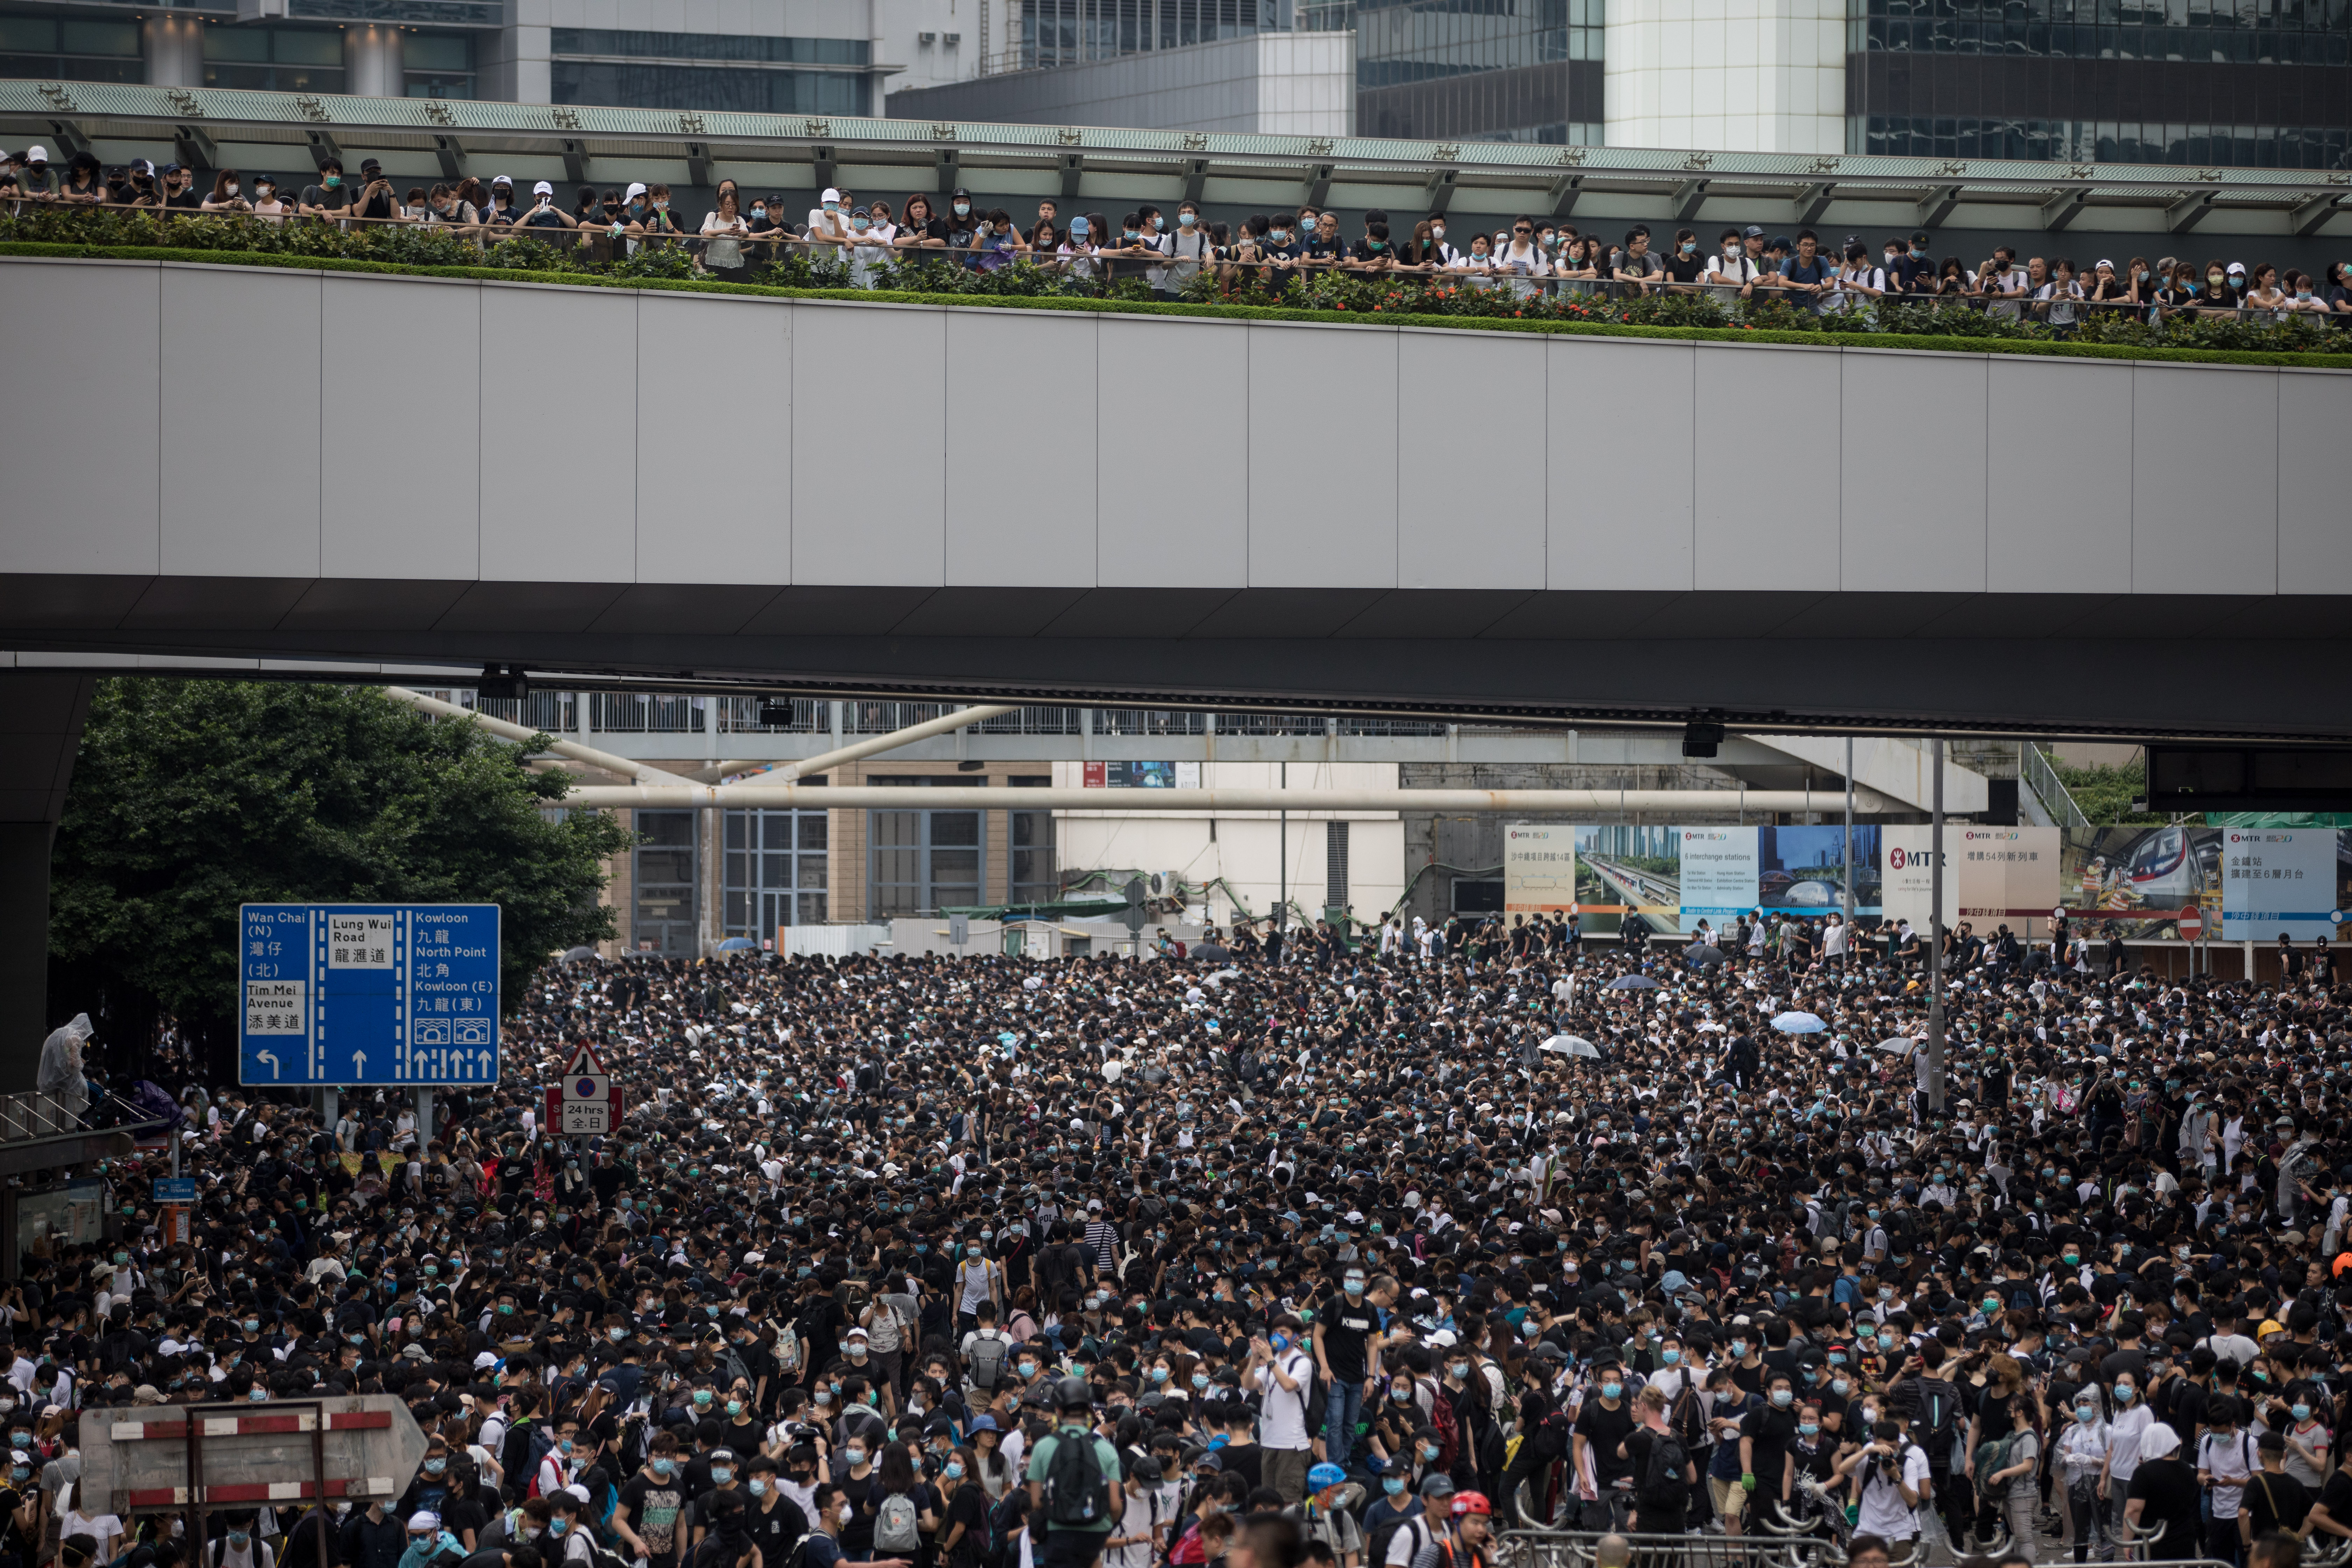
[{"label": "row of people lining the overpass walkway above the hedge", "polygon": [[89,153],[52,174],[47,150],[9,155],[0,169],[0,202],[129,207],[155,212],[238,214],[261,221],[426,223],[477,240],[522,235],[557,247],[581,247],[595,259],[644,244],[691,249],[696,268],[717,280],[746,282],[762,261],[786,249],[847,263],[851,282],[868,284],[882,268],[908,261],[948,261],[969,270],[1028,263],[1047,273],[1141,280],[1157,296],[1181,296],[1197,275],[1216,287],[1279,289],[1294,277],[1348,273],[1418,282],[1458,282],[1531,294],[1642,296],[1703,294],[1715,301],[1783,299],[1809,313],[1870,313],[1882,301],[1945,301],[2002,320],[2046,322],[2067,334],[2093,313],[2227,315],[2251,322],[2352,322],[2352,263],[2328,263],[2326,275],[2277,268],[2267,261],[2197,261],[2192,256],[2020,256],[1999,244],[1980,261],[1933,254],[1931,235],[1870,242],[1846,235],[1823,242],[1811,228],[1795,237],[1762,226],[1726,226],[1712,240],[1677,228],[1661,240],[1635,223],[1621,237],[1583,233],[1566,221],[1517,216],[1486,230],[1472,219],[1432,212],[1404,226],[1367,212],[1357,233],[1341,214],[1312,205],[1254,214],[1240,223],[1209,221],[1200,202],[1174,212],[1138,205],[1117,219],[1073,212],[1042,200],[1025,221],[1004,207],[976,202],[969,190],[943,200],[924,193],[891,205],[826,188],[818,205],[795,214],[781,193],[746,195],[722,179],[715,207],[696,221],[663,183],[607,190],[579,186],[572,197],[550,181],[522,190],[513,179],[454,179],[400,190],[379,160],[346,179],[327,158],[299,188],[268,174],[247,181],[238,169],[214,169],[209,190],[181,165],[155,169],[132,162],[103,169]]}]

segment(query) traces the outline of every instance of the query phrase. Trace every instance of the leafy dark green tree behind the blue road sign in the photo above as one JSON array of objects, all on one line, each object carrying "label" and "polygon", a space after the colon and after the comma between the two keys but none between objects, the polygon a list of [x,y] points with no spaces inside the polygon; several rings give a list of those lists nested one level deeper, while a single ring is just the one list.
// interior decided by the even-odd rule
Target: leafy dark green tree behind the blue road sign
[{"label": "leafy dark green tree behind the blue road sign", "polygon": [[52,1013],[139,1039],[172,1013],[226,1060],[240,903],[496,903],[520,994],[614,933],[602,863],[633,842],[550,813],[569,785],[527,750],[365,686],[99,682],[52,856]]}]

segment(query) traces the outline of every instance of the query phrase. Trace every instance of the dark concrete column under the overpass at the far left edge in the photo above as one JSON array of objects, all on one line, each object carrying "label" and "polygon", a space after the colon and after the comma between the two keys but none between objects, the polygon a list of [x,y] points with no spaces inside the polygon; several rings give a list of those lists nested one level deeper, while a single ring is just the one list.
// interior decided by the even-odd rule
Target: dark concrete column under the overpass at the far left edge
[{"label": "dark concrete column under the overpass at the far left edge", "polygon": [[0,677],[0,1093],[28,1093],[49,1034],[49,842],[96,682]]}]

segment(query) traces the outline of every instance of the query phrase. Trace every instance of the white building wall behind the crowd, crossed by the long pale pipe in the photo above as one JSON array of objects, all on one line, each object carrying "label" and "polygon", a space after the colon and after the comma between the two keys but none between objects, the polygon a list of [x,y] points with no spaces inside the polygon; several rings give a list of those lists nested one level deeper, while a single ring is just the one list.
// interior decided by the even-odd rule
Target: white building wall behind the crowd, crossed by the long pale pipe
[{"label": "white building wall behind the crowd, crossed by the long pale pipe", "polygon": [[[1084,783],[1084,762],[1056,762],[1054,788]],[[1294,762],[1289,778],[1272,762],[1204,762],[1200,780],[1211,790],[1395,790],[1392,762]],[[1148,799],[1148,790],[1103,790],[1105,799]],[[1324,825],[1348,823],[1348,905],[1359,919],[1376,919],[1404,898],[1404,823],[1395,811],[1291,811],[1284,825],[1275,811],[1155,813],[1141,809],[1058,811],[1054,856],[1070,870],[1176,872],[1211,889],[1204,910],[1211,924],[1228,924],[1235,896],[1251,914],[1270,914],[1282,889],[1310,917],[1322,914],[1327,889]],[[1284,875],[1284,844],[1289,870]]]}]

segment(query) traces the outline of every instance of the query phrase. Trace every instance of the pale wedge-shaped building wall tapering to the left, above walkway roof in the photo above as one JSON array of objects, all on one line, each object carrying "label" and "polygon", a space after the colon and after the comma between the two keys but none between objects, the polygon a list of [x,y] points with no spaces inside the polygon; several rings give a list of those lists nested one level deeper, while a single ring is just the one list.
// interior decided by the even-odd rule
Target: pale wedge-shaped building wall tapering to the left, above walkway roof
[{"label": "pale wedge-shaped building wall tapering to the left, above walkway roof", "polygon": [[1348,136],[1355,127],[1355,33],[1261,33],[891,92],[889,115]]}]

